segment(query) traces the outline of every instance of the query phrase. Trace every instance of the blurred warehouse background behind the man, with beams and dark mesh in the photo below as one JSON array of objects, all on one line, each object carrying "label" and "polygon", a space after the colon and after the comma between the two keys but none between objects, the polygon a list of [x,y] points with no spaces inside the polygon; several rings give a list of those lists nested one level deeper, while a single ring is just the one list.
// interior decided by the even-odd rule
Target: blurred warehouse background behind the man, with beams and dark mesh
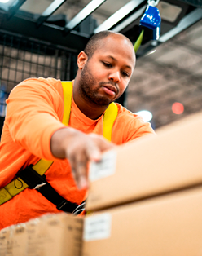
[{"label": "blurred warehouse background behind the man, with beams and dark mesh", "polygon": [[[141,0],[0,1],[0,116],[11,89],[28,77],[73,79],[77,53],[111,29],[132,42],[147,7]],[[119,102],[152,113],[159,128],[202,109],[202,1],[164,0],[159,41],[144,38]]]}]

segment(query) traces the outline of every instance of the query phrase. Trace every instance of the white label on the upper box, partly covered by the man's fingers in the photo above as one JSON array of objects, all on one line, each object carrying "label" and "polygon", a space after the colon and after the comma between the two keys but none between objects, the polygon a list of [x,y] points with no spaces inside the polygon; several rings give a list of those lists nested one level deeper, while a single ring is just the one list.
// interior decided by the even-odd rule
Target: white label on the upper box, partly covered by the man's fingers
[{"label": "white label on the upper box, partly covered by the man's fingers", "polygon": [[90,181],[95,181],[108,177],[115,173],[116,170],[116,152],[114,150],[103,154],[101,161],[90,162]]}]

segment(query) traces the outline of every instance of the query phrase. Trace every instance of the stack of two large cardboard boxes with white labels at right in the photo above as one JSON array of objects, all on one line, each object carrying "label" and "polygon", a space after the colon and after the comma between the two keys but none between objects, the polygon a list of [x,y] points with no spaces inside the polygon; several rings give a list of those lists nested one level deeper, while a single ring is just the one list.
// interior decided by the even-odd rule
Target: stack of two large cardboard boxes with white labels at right
[{"label": "stack of two large cardboard boxes with white labels at right", "polygon": [[202,113],[90,168],[82,256],[202,254]]}]

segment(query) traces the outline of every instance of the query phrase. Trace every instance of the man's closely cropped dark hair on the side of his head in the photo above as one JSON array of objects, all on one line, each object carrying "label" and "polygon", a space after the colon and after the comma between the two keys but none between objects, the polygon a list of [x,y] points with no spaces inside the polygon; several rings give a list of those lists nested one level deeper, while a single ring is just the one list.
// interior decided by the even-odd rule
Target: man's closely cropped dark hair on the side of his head
[{"label": "man's closely cropped dark hair on the side of his head", "polygon": [[113,32],[111,30],[104,30],[100,31],[99,33],[95,33],[92,36],[92,38],[90,38],[89,42],[87,42],[86,47],[84,49],[84,52],[86,53],[86,55],[88,55],[89,59],[94,54],[94,51],[98,49],[98,46],[100,45],[100,40],[102,40],[103,38],[107,38],[109,35],[112,34],[119,33]]}]

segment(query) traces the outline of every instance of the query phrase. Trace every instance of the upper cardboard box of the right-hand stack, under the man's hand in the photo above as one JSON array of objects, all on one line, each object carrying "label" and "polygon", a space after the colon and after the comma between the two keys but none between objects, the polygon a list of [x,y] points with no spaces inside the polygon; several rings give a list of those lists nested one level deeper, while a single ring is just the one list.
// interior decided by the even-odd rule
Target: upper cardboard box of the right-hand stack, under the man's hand
[{"label": "upper cardboard box of the right-hand stack, under the man's hand", "polygon": [[202,113],[105,152],[90,165],[86,210],[155,196],[202,183]]}]

